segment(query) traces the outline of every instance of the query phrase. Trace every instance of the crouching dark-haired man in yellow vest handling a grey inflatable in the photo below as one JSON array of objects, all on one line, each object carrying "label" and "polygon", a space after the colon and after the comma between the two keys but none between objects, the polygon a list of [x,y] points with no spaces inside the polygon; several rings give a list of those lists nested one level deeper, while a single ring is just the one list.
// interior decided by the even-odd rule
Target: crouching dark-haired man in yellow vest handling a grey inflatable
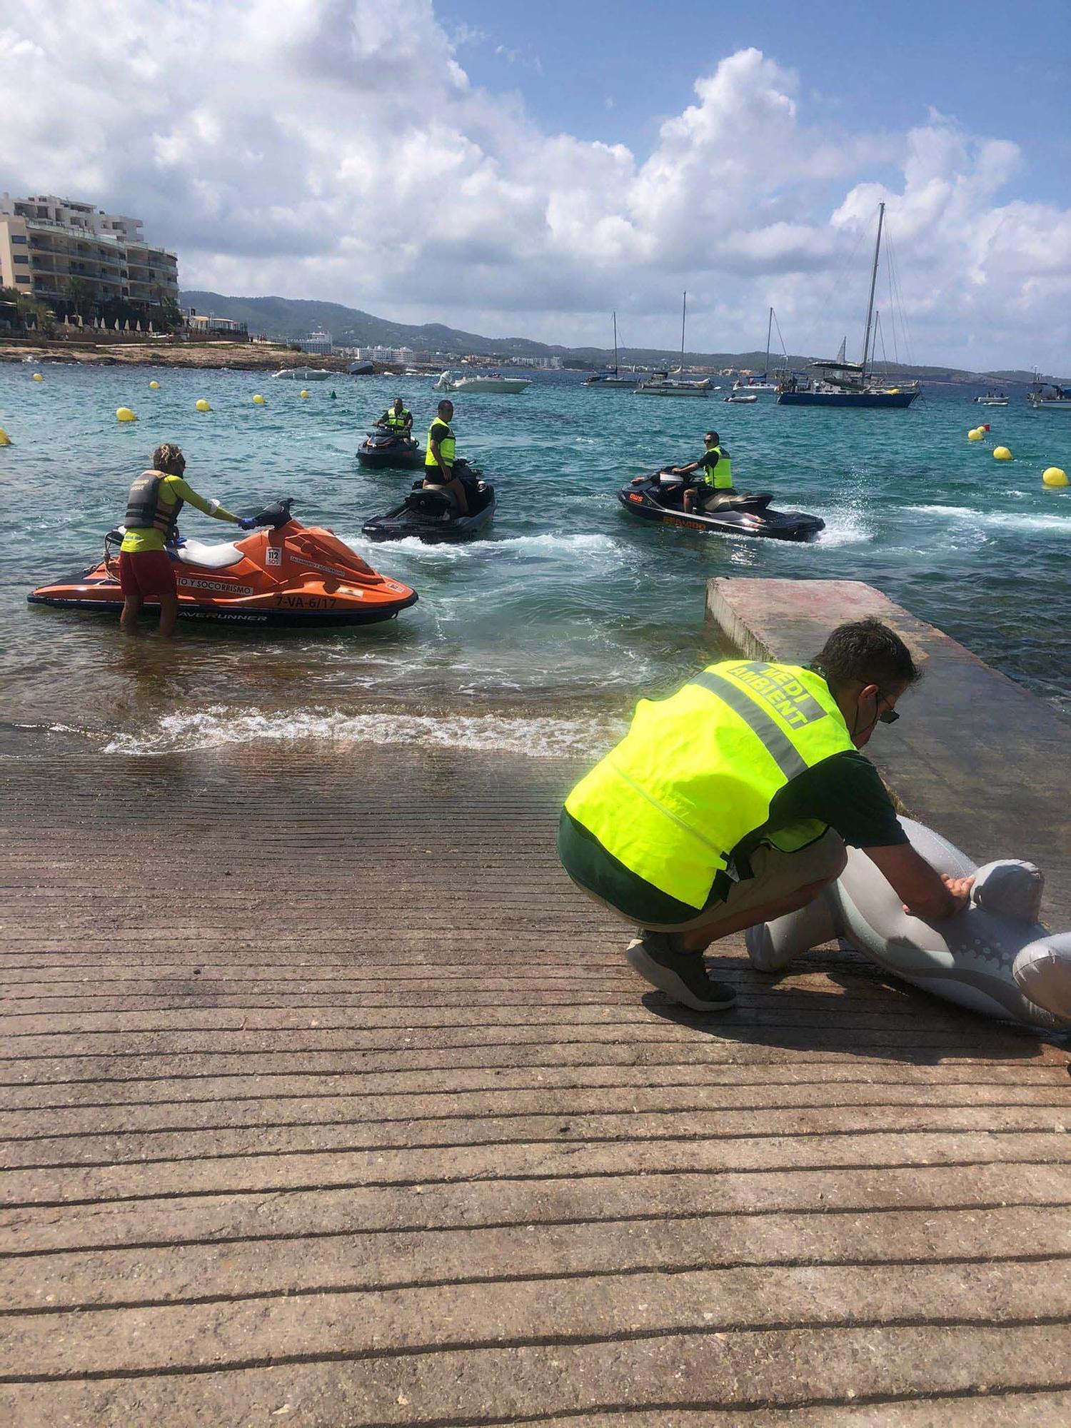
[{"label": "crouching dark-haired man in yellow vest handling a grey inflatable", "polygon": [[707,975],[711,942],[794,912],[863,848],[927,920],[967,905],[914,851],[858,750],[892,724],[918,670],[877,620],[840,625],[807,665],[713,664],[665,700],[565,800],[558,855],[585,892],[641,928],[633,968],[695,1011],[735,992]]}]

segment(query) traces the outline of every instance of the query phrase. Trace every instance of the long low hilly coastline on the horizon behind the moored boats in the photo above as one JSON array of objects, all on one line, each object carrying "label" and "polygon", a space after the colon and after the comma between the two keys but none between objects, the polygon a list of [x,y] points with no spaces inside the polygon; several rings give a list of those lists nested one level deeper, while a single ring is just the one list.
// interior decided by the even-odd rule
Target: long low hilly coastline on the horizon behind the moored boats
[{"label": "long low hilly coastline on the horizon behind the moored boats", "polygon": [[[483,357],[561,357],[584,361],[591,367],[605,367],[613,361],[608,347],[561,347],[536,343],[528,337],[481,337],[441,323],[393,323],[386,317],[363,313],[357,307],[341,303],[317,303],[296,297],[224,297],[223,293],[187,290],[178,294],[183,307],[196,307],[198,313],[213,313],[216,317],[231,317],[247,323],[251,333],[277,337],[281,341],[296,341],[316,327],[328,331],[341,347],[413,347],[417,350],[443,353],[474,353]],[[760,370],[765,361],[764,351],[751,353],[685,353],[685,361],[703,367],[744,367]],[[668,366],[680,360],[680,353],[664,347],[621,347],[618,361],[623,364]],[[780,364],[780,357],[777,363]],[[770,364],[774,366],[774,354]],[[788,364],[797,370],[807,367],[814,357],[800,353],[788,354]],[[1030,383],[1032,373],[997,371],[974,373],[955,367],[908,367],[898,363],[877,363],[878,371],[895,371],[905,377],[920,377],[930,381],[980,383],[994,381],[1005,386]],[[1050,380],[1050,378],[1042,378]],[[1064,378],[1061,378],[1064,380]]]}]

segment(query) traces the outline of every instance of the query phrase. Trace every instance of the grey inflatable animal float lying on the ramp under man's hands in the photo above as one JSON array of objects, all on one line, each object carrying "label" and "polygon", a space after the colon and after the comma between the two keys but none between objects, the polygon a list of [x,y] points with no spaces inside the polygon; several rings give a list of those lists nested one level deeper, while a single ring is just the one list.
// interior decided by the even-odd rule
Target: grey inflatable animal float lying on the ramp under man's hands
[{"label": "grey inflatable animal float lying on the ramp under man's hands", "polygon": [[848,848],[844,873],[814,902],[748,930],[751,962],[780,971],[800,952],[843,938],[884,971],[971,1011],[1071,1031],[1071,932],[1038,922],[1041,871],[1017,860],[978,868],[921,823],[900,821],[938,873],[974,874],[962,912],[937,925],[911,917],[865,853]]}]

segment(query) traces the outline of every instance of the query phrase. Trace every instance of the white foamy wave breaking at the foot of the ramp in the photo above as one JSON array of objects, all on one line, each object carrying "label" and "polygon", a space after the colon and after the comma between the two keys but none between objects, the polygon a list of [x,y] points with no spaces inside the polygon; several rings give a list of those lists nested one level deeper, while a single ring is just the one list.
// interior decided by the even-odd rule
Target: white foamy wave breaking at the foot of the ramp
[{"label": "white foamy wave breaking at the foot of the ramp", "polygon": [[156,728],[114,734],[106,754],[173,754],[226,748],[260,740],[294,743],[327,740],[333,744],[410,744],[426,748],[471,748],[524,754],[528,758],[565,758],[603,753],[624,731],[608,715],[540,718],[508,714],[346,714],[340,710],[298,710],[267,714],[213,705],[188,714],[167,714]]}]

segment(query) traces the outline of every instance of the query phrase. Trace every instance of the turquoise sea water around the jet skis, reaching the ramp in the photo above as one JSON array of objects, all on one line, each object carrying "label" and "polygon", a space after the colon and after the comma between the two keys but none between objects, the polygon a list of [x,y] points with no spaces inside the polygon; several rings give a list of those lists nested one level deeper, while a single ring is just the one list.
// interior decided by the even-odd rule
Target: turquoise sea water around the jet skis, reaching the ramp
[{"label": "turquoise sea water around the jet skis, reaching the ramp", "polygon": [[[498,488],[488,534],[460,547],[373,547],[363,520],[408,473],[363,473],[354,451],[396,388],[421,431],[428,381],[346,378],[310,387],[250,373],[0,367],[9,721],[84,731],[113,748],[326,734],[510,744],[534,753],[597,743],[638,691],[673,685],[708,657],[710,575],[868,581],[1037,693],[1071,700],[1071,423],[1017,400],[981,408],[962,393],[914,408],[825,413],[770,398],[644,398],[541,376],[518,397],[461,397],[458,451]],[[160,391],[150,391],[156,377]],[[267,396],[266,407],[250,401]],[[210,414],[194,401],[207,397]],[[134,426],[116,407],[139,414]],[[968,444],[988,420],[1015,463]],[[737,484],[814,511],[814,544],[648,528],[618,484],[701,450],[714,424]],[[187,478],[224,504],[296,497],[420,603],[397,621],[336,633],[180,627],[123,640],[114,621],[27,607],[26,591],[99,558],[133,477],[161,440]],[[991,443],[992,444],[992,443]],[[190,514],[188,534],[228,530]]]}]

